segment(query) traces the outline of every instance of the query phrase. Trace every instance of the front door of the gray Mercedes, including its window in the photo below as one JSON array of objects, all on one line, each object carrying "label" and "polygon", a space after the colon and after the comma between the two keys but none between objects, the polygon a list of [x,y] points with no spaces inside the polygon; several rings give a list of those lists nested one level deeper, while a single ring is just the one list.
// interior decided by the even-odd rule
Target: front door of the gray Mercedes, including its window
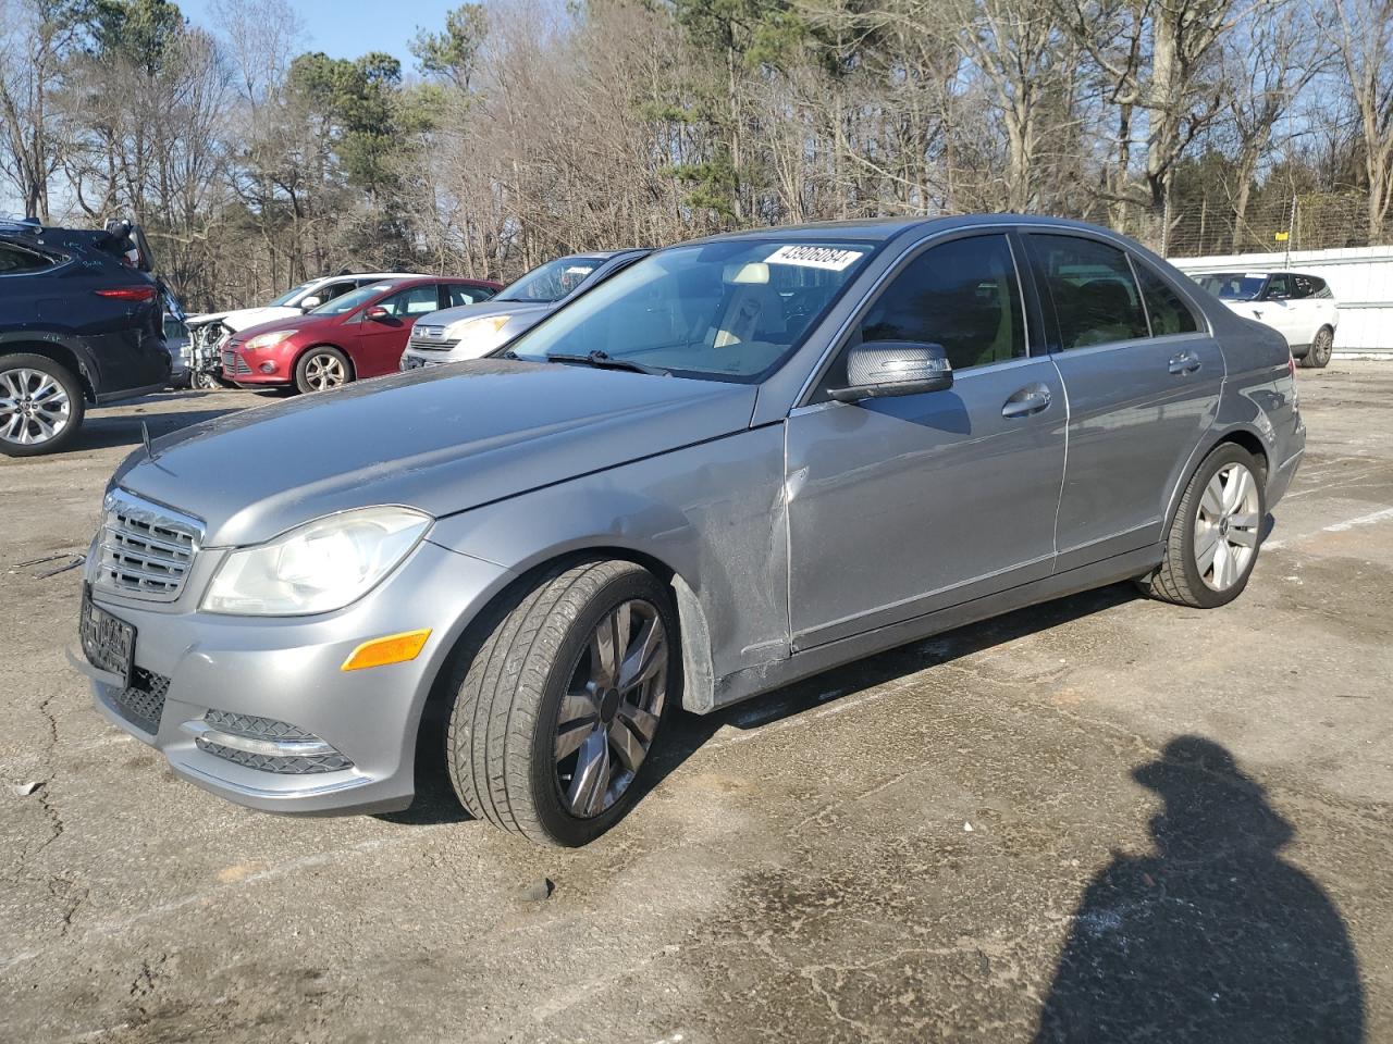
[{"label": "front door of the gray Mercedes, including its window", "polygon": [[871,302],[847,345],[942,344],[954,384],[841,404],[834,363],[787,426],[794,649],[1048,576],[1064,472],[1055,365],[1027,352],[1004,234],[939,242]]}]

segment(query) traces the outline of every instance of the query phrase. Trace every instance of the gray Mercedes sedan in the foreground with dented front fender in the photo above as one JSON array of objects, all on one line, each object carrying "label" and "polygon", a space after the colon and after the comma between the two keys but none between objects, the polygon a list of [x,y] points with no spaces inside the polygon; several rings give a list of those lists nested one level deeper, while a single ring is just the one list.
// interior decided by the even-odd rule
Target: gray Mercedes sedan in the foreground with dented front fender
[{"label": "gray Mercedes sedan in the foreground with dented front fender", "polygon": [[234,802],[404,807],[439,715],[474,816],[581,845],[677,707],[1117,580],[1223,606],[1304,443],[1282,337],[1100,228],[723,235],[137,451],[70,656]]}]

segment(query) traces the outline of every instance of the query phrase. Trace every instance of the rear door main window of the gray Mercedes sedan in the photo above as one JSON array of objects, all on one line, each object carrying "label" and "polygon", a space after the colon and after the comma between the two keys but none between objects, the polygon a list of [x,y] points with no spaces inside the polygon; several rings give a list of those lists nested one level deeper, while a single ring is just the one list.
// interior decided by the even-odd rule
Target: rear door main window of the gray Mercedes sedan
[{"label": "rear door main window of the gray Mercedes sedan", "polygon": [[1073,235],[1031,235],[1031,241],[1064,351],[1151,335],[1131,264],[1119,248]]}]

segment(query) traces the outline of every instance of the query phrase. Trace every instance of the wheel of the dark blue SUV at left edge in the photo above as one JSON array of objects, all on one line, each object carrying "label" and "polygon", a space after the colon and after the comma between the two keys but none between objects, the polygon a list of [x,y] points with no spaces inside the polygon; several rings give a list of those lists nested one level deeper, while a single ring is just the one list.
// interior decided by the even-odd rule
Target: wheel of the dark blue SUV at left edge
[{"label": "wheel of the dark blue SUV at left edge", "polygon": [[0,452],[59,452],[82,426],[82,386],[65,366],[43,355],[0,356]]}]

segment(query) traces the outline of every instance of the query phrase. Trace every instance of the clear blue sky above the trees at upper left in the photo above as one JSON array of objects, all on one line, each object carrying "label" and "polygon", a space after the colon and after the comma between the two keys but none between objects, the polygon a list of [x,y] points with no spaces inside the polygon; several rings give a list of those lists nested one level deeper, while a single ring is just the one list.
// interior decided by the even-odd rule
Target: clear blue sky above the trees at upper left
[{"label": "clear blue sky above the trees at upper left", "polygon": [[[184,15],[212,29],[209,0],[177,0]],[[294,0],[291,4],[305,26],[305,49],[322,50],[333,58],[357,58],[369,50],[384,50],[401,58],[403,72],[415,61],[407,45],[417,28],[439,32],[444,13],[462,0]]]}]

